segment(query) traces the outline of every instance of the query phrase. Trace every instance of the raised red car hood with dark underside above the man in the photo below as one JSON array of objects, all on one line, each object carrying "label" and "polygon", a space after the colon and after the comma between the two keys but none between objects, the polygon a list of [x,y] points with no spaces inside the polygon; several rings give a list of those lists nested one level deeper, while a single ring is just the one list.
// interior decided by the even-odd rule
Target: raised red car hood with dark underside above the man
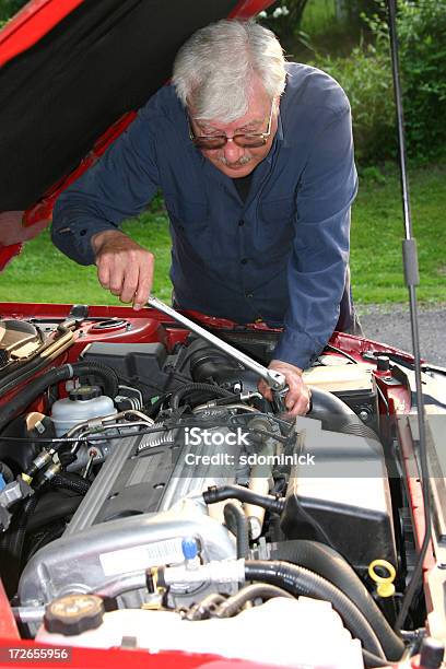
[{"label": "raised red car hood with dark underside above the man", "polygon": [[32,0],[0,32],[0,269],[169,78],[196,30],[272,2]]}]

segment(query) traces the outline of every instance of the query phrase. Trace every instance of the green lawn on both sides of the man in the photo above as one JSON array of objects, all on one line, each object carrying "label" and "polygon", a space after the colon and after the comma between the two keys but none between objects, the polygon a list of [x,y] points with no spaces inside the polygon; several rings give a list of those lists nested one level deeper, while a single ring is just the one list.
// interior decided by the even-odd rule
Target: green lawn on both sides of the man
[{"label": "green lawn on both sides of the man", "polygon": [[[378,179],[376,178],[378,177]],[[377,183],[380,180],[384,183]],[[410,171],[414,235],[418,240],[421,302],[446,302],[446,165]],[[124,230],[156,257],[154,294],[169,301],[167,219],[155,206]],[[352,215],[352,283],[356,302],[404,302],[401,239],[403,225],[395,168],[361,179]],[[59,253],[48,232],[28,242],[0,278],[0,302],[119,304],[97,283],[94,267],[81,267]]]}]

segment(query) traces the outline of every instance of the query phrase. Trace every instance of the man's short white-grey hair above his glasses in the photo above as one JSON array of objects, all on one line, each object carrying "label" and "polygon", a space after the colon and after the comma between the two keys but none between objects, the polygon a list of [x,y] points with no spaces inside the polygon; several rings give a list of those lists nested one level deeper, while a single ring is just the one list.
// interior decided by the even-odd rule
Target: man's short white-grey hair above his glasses
[{"label": "man's short white-grey hair above his glasses", "polygon": [[272,101],[285,87],[285,59],[275,35],[254,21],[219,21],[179,49],[173,84],[193,118],[231,124],[248,110],[254,79]]}]

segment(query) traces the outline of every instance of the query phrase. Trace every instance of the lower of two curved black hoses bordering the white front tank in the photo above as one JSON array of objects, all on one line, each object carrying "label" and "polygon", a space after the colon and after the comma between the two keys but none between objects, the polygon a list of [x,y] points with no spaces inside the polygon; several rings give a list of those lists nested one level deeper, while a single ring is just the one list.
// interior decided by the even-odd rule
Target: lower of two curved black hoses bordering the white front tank
[{"label": "lower of two curved black hoses bordering the white front tank", "polygon": [[347,595],[326,578],[287,562],[260,560],[245,562],[245,578],[277,585],[293,595],[304,595],[331,602],[347,629],[362,642],[364,648],[386,659],[379,639],[365,615]]}]

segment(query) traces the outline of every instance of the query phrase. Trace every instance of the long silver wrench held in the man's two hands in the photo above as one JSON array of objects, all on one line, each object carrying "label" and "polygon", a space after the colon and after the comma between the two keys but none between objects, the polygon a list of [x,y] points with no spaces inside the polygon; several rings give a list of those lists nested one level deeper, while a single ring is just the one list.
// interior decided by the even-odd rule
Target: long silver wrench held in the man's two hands
[{"label": "long silver wrench held in the man's two hands", "polygon": [[163,314],[166,314],[167,316],[171,316],[171,318],[177,322],[186,326],[188,330],[191,330],[199,337],[202,337],[206,339],[206,341],[209,341],[209,343],[223,351],[223,353],[227,353],[227,355],[231,355],[231,357],[242,363],[245,367],[248,367],[248,369],[251,369],[258,374],[258,376],[260,376],[260,378],[262,378],[273,391],[278,411],[285,410],[284,398],[289,388],[283,374],[280,372],[274,372],[274,369],[268,369],[268,367],[265,367],[260,363],[256,362],[249,357],[249,355],[246,355],[242,351],[237,351],[237,349],[232,347],[230,343],[219,339],[219,337],[215,337],[215,334],[212,334],[212,332],[208,332],[208,330],[193,322],[193,320],[190,320],[190,318],[187,318],[187,316],[179,314],[167,304],[164,304],[164,302],[157,297],[149,297],[148,305],[154,309],[157,309],[159,312],[162,312]]}]

